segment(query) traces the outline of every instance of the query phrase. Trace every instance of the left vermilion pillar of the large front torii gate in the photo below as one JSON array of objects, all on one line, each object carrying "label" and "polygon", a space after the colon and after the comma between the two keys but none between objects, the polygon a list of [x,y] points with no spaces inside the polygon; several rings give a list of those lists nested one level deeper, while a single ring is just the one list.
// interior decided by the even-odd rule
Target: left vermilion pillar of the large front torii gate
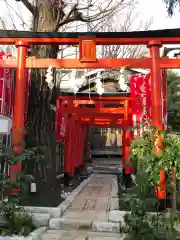
[{"label": "left vermilion pillar of the large front torii gate", "polygon": [[[24,140],[24,114],[25,114],[25,68],[28,45],[22,41],[17,42],[17,69],[16,69],[16,86],[14,101],[14,117],[12,129],[12,144],[16,155],[23,151],[22,141]],[[10,178],[14,179],[21,170],[21,163],[18,162],[10,167]]]}]

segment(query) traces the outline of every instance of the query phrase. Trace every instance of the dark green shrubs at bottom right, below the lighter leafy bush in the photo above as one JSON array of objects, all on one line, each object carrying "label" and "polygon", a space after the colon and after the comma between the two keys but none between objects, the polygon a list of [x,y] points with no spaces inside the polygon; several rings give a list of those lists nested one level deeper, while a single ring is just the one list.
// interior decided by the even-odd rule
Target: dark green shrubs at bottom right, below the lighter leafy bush
[{"label": "dark green shrubs at bottom right, below the lighter leafy bush", "polygon": [[127,194],[130,212],[124,216],[125,240],[174,240],[175,218],[170,212],[158,213],[159,202],[155,198],[149,183],[148,173],[139,170],[137,185]]}]

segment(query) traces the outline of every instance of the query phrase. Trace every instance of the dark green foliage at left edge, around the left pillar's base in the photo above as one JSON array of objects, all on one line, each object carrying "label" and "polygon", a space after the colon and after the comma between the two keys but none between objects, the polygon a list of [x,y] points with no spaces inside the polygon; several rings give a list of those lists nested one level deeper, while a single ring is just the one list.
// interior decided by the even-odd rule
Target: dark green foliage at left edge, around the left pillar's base
[{"label": "dark green foliage at left edge, around the left pillar's base", "polygon": [[[18,162],[36,161],[40,162],[44,159],[44,152],[40,147],[32,149],[23,149],[22,154],[17,155],[13,151],[7,151],[4,146],[0,148],[0,163],[6,162],[9,165],[17,164]],[[35,229],[32,217],[19,206],[21,190],[25,187],[24,179],[26,174],[24,171],[14,174],[13,178],[5,176],[0,182],[2,186],[2,195],[4,192],[9,192],[13,196],[8,197],[7,201],[2,201],[0,205],[0,215],[5,219],[5,226],[0,228],[1,235],[28,235]],[[20,189],[20,191],[14,191]],[[15,193],[16,192],[16,193]]]}]

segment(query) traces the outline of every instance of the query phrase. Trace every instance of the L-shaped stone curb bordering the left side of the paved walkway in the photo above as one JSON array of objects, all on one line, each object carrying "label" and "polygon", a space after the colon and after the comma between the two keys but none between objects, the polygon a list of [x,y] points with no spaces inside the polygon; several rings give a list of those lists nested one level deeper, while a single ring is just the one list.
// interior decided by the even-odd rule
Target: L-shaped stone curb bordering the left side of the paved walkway
[{"label": "L-shaped stone curb bordering the left side of the paved walkway", "polygon": [[31,207],[31,206],[25,206],[24,209],[27,212],[36,213],[36,214],[42,214],[42,213],[48,213],[51,214],[53,218],[59,218],[61,217],[64,212],[69,208],[69,206],[72,204],[76,196],[84,189],[86,184],[91,181],[91,179],[94,177],[95,174],[90,175],[87,179],[85,179],[83,182],[80,183],[80,185],[75,188],[71,194],[58,206],[58,207]]}]

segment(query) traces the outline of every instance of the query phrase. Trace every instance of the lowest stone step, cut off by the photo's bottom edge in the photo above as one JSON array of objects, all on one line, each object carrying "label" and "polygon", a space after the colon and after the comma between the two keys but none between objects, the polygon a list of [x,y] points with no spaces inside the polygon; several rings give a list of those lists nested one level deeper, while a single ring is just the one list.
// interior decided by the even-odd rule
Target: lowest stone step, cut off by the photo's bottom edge
[{"label": "lowest stone step, cut off by the photo's bottom edge", "polygon": [[120,240],[122,236],[118,233],[103,233],[76,230],[47,230],[42,235],[42,240]]}]

